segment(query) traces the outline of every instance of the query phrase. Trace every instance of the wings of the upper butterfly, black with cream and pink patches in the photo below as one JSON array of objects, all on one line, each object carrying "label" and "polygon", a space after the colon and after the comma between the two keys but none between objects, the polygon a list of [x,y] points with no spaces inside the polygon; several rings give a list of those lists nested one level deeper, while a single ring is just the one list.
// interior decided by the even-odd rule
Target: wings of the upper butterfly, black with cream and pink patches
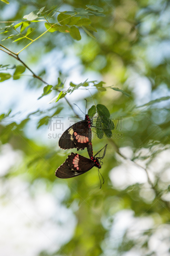
[{"label": "wings of the upper butterfly, black with cream and pink patches", "polygon": [[83,150],[88,148],[91,136],[92,131],[88,121],[77,122],[62,134],[59,140],[59,147],[62,149],[77,148],[77,150]]}]

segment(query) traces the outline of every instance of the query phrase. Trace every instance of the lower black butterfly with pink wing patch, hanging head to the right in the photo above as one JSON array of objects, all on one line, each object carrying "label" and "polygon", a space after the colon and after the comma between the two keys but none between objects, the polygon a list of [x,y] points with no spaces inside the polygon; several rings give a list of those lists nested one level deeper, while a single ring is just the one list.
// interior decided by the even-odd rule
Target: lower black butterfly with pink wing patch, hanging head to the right
[{"label": "lower black butterfly with pink wing patch, hanging head to the right", "polygon": [[66,161],[55,171],[55,176],[61,179],[68,179],[88,172],[92,169],[93,166],[96,166],[98,169],[100,169],[103,163],[101,161],[99,162],[99,159],[101,160],[104,158],[106,148],[107,144],[104,148],[101,149],[104,149],[102,157],[96,157],[98,154],[100,154],[100,150],[95,156],[92,156],[91,159],[76,153],[71,153]]}]

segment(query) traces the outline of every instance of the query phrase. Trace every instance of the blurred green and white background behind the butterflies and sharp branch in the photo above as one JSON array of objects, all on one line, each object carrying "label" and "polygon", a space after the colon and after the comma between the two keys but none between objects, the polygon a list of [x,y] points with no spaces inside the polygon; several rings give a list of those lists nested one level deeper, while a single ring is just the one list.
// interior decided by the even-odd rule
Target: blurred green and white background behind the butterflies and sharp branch
[{"label": "blurred green and white background behind the butterflies and sharp branch", "polygon": [[[166,0],[10,1],[0,2],[0,21],[21,21],[29,12],[58,4],[71,11],[86,4],[104,9],[91,16],[96,39],[81,31],[73,40],[46,33],[20,58],[49,84],[66,79],[65,88],[89,80],[128,92],[83,90],[68,95],[82,118],[93,104],[123,117],[115,134],[93,139],[93,151],[106,143],[100,189],[97,168],[60,180],[55,170],[73,150],[58,147],[48,116],[62,108],[63,130],[75,113],[65,99],[47,104],[55,93],[37,100],[44,84],[29,71],[0,84],[0,250],[4,256],[168,256],[170,255],[170,2]],[[49,9],[48,8],[48,9]],[[56,18],[55,18],[56,19]],[[3,23],[0,23],[3,27]],[[37,32],[38,31],[38,32]],[[36,32],[45,31],[43,22]],[[4,39],[3,34],[0,36]],[[26,42],[4,45],[17,52]],[[0,52],[0,64],[16,64]],[[90,91],[90,92],[89,92]],[[52,95],[54,94],[54,95]],[[11,109],[11,112],[10,112]],[[8,115],[8,113],[10,114]],[[36,112],[36,113],[35,113]],[[6,114],[4,116],[3,114]],[[56,116],[56,115],[54,115]],[[4,118],[5,117],[5,118]],[[78,119],[76,119],[78,121]],[[116,124],[116,121],[115,121]],[[61,127],[62,128],[62,127]],[[113,131],[114,132],[114,131]],[[54,138],[49,138],[54,133]],[[80,152],[87,156],[86,150]]]}]

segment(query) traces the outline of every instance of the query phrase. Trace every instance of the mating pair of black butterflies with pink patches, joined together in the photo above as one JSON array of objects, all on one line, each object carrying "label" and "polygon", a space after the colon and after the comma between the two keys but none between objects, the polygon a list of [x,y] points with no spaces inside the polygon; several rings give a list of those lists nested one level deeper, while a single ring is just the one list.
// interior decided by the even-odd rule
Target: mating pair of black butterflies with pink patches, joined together
[{"label": "mating pair of black butterflies with pink patches, joined together", "polygon": [[89,158],[71,153],[66,161],[56,170],[55,175],[61,179],[72,178],[88,172],[93,166],[101,168],[99,159],[103,159],[106,153],[107,145],[104,147],[102,157],[95,156],[92,151],[92,120],[88,115],[85,115],[85,120],[77,122],[70,126],[60,137],[59,147],[62,149],[77,148],[77,150],[87,148]]}]

